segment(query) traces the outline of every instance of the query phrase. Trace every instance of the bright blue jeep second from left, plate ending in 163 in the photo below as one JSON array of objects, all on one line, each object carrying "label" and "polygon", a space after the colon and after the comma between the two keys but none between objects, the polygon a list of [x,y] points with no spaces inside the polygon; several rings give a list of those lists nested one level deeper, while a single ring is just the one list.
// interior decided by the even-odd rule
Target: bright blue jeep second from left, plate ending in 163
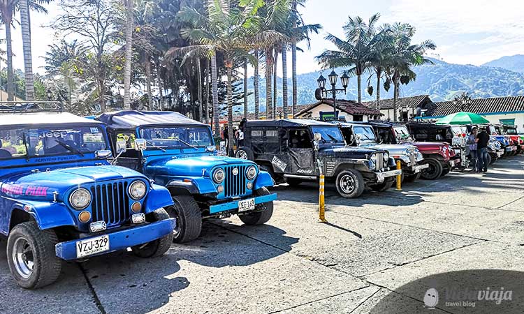
[{"label": "bright blue jeep second from left, plate ending in 163", "polygon": [[[273,185],[270,174],[252,161],[217,156],[210,126],[177,112],[121,111],[96,119],[107,125],[119,165],[169,189],[175,204],[167,210],[178,222],[175,242],[196,239],[202,218],[238,214],[246,225],[270,220],[277,199],[266,188]],[[145,140],[145,150],[121,152],[139,140]]]}]

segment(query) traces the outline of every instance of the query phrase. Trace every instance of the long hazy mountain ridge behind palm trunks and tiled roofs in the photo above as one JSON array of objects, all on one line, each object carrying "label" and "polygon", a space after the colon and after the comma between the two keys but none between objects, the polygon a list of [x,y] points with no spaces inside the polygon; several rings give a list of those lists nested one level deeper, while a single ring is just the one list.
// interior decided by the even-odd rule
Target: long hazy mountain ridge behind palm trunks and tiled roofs
[{"label": "long hazy mountain ridge behind palm trunks and tiled roofs", "polygon": [[[472,66],[462,64],[446,63],[432,59],[434,65],[424,65],[414,68],[417,77],[414,82],[401,85],[400,96],[414,96],[420,94],[430,95],[433,101],[450,100],[456,93],[466,91],[472,97],[495,97],[495,96],[518,96],[524,95],[524,73],[516,73],[504,68],[491,68],[488,66]],[[288,70],[289,72],[289,70]],[[330,71],[324,71],[324,76]],[[337,73],[342,75],[342,69]],[[263,73],[261,72],[261,75]],[[314,90],[317,87],[316,79],[318,72],[298,75],[298,104],[304,105],[314,103]],[[363,100],[373,100],[366,91],[369,75],[363,75]],[[291,104],[291,78],[289,78],[289,100]],[[377,85],[374,77],[370,82],[373,87]],[[340,87],[340,82],[337,87]],[[249,90],[253,89],[253,79],[249,81]],[[277,104],[282,106],[282,79],[278,80]],[[356,77],[349,82],[347,95],[338,94],[337,98],[357,99]],[[260,104],[261,110],[265,110],[265,80],[260,80]],[[388,93],[381,91],[381,98],[393,98],[393,89]],[[254,110],[254,97],[249,99],[250,110]]]}]

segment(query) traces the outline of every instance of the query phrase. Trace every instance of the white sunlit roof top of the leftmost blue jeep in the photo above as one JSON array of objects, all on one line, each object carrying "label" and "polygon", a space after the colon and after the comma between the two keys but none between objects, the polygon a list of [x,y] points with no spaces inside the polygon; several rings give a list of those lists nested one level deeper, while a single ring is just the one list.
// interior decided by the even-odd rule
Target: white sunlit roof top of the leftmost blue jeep
[{"label": "white sunlit roof top of the leftmost blue jeep", "polygon": [[42,112],[42,113],[20,113],[0,114],[0,127],[2,126],[25,126],[25,125],[57,125],[57,124],[101,124],[68,112]]}]

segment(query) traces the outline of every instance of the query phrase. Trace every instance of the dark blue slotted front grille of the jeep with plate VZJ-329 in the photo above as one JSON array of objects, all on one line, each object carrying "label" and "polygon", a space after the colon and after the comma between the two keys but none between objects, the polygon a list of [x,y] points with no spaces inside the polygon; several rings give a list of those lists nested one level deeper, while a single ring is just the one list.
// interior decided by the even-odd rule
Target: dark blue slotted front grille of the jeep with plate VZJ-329
[{"label": "dark blue slotted front grille of the jeep with plate VZJ-329", "polygon": [[110,227],[129,220],[128,185],[119,181],[91,187],[93,221],[103,220]]}]

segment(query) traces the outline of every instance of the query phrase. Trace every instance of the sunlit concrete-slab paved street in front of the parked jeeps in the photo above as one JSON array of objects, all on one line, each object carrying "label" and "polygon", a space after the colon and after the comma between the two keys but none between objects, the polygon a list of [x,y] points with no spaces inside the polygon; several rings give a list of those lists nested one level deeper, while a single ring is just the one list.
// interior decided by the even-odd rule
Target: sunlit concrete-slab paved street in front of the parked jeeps
[{"label": "sunlit concrete-slab paved street in front of the parked jeeps", "polygon": [[[198,240],[166,256],[68,263],[41,290],[15,285],[1,239],[0,313],[425,313],[431,281],[521,285],[524,156],[485,175],[452,172],[357,200],[330,187],[328,224],[316,222],[314,185],[274,190],[268,225],[208,221]],[[439,304],[430,313],[479,313],[468,310]]]}]

